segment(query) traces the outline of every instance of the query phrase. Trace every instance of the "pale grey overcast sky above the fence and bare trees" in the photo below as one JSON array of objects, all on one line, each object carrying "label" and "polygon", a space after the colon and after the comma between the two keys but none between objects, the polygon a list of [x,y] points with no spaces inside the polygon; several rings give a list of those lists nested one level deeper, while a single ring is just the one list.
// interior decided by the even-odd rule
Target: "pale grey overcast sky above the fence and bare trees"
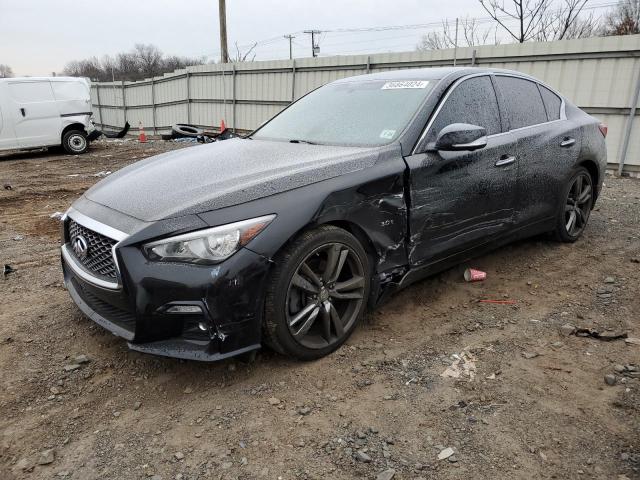
[{"label": "pale grey overcast sky above the fence and bare trees", "polygon": [[[307,29],[438,22],[484,16],[478,0],[227,0],[229,49]],[[326,33],[322,55],[413,50],[420,30]],[[296,34],[294,56],[309,56]],[[217,0],[0,0],[0,63],[16,75],[50,75],[71,60],[152,43],[164,53],[219,56]],[[261,45],[256,60],[287,58],[284,38]]]}]

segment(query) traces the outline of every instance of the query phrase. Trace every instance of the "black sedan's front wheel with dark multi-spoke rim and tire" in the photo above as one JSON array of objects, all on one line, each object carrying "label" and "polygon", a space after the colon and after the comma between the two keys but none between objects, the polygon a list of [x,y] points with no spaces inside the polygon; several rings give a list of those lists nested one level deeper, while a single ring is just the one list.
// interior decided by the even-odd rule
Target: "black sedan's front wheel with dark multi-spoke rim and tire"
[{"label": "black sedan's front wheel with dark multi-spoke rim and tire", "polygon": [[275,265],[265,300],[265,343],[298,360],[339,348],[369,298],[370,266],[360,242],[341,228],[321,226],[297,237]]}]

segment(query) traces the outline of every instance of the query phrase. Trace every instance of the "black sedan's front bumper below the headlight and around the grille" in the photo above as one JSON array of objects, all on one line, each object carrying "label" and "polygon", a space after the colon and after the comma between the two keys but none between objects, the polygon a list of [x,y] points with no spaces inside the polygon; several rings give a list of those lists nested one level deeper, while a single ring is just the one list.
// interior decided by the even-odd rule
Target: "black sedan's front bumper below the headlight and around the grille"
[{"label": "black sedan's front bumper below the headlight and around the grille", "polygon": [[[241,249],[218,265],[150,262],[130,245],[114,250],[119,287],[105,288],[68,250],[65,244],[62,267],[72,300],[132,350],[214,361],[260,348],[265,257]],[[201,313],[168,313],[175,305]]]}]

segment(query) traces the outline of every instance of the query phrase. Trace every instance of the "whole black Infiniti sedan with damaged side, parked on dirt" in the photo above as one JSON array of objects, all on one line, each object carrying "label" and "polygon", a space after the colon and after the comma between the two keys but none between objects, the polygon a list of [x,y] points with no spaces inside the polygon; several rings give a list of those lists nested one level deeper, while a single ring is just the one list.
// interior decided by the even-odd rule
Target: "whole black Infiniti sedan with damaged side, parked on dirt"
[{"label": "whole black Infiniti sedan with damaged side, parked on dirt", "polygon": [[606,127],[538,80],[430,68],[346,78],[245,138],[137,162],[64,218],[69,294],[142,352],[338,348],[367,308],[515,239],[577,240]]}]

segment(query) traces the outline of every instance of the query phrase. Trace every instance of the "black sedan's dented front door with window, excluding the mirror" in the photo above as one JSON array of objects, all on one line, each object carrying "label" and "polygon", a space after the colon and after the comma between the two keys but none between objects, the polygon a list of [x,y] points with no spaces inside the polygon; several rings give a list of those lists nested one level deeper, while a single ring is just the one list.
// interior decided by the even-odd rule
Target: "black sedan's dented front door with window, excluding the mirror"
[{"label": "black sedan's dented front door with window, excluding the mirror", "polygon": [[504,131],[492,80],[474,76],[453,86],[419,145],[435,141],[452,123],[487,130],[475,151],[416,153],[406,158],[410,176],[410,262],[428,265],[479,246],[513,225],[516,139]]}]

